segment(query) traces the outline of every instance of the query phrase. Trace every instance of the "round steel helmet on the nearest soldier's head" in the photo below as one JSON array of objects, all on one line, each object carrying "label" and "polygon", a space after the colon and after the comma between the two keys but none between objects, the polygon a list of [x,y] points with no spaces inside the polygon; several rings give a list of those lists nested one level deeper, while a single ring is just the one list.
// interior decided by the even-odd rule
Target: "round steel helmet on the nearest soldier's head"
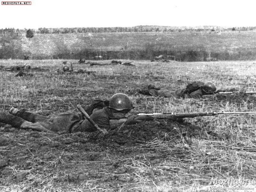
[{"label": "round steel helmet on the nearest soldier's head", "polygon": [[122,111],[122,110],[131,110],[132,100],[126,94],[116,93],[109,100],[109,108]]}]

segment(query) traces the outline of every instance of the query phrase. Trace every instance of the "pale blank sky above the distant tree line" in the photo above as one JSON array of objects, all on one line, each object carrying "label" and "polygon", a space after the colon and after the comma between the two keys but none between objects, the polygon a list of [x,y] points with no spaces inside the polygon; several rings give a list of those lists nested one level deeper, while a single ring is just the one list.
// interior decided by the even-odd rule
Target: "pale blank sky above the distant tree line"
[{"label": "pale blank sky above the distant tree line", "polygon": [[1,4],[0,28],[256,26],[256,0],[28,1]]}]

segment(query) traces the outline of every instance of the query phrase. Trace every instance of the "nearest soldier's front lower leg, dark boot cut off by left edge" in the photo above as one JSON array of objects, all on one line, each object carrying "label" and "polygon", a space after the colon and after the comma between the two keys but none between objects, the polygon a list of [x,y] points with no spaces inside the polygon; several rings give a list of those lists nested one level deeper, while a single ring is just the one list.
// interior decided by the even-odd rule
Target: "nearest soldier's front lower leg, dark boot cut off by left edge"
[{"label": "nearest soldier's front lower leg, dark boot cut off by left edge", "polygon": [[15,128],[21,129],[32,129],[36,131],[52,132],[47,129],[48,124],[43,123],[32,123],[24,120],[21,117],[14,116],[6,112],[0,112],[0,122],[4,124],[9,124]]}]

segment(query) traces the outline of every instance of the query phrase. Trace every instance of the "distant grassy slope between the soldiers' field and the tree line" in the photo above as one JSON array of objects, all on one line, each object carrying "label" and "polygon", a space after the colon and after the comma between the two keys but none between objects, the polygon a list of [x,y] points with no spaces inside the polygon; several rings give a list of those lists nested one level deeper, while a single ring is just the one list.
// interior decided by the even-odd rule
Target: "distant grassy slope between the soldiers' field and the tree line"
[{"label": "distant grassy slope between the soldiers' field and the tree line", "polygon": [[114,32],[0,36],[0,58],[150,60],[172,55],[179,61],[255,60],[255,31]]}]

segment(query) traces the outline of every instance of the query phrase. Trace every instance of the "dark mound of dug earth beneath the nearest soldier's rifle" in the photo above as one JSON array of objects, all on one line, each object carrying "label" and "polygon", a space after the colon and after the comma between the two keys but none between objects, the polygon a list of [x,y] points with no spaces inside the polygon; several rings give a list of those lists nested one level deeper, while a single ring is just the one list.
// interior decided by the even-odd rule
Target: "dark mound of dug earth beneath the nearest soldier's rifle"
[{"label": "dark mound of dug earth beneath the nearest soldier's rifle", "polygon": [[106,136],[102,134],[95,140],[98,144],[107,147],[113,147],[113,145],[133,146],[137,144],[145,144],[152,140],[164,139],[164,140],[176,140],[181,136],[196,136],[200,134],[200,128],[192,126],[192,124],[171,120],[155,120],[144,122],[136,125],[122,126],[110,131]]}]

